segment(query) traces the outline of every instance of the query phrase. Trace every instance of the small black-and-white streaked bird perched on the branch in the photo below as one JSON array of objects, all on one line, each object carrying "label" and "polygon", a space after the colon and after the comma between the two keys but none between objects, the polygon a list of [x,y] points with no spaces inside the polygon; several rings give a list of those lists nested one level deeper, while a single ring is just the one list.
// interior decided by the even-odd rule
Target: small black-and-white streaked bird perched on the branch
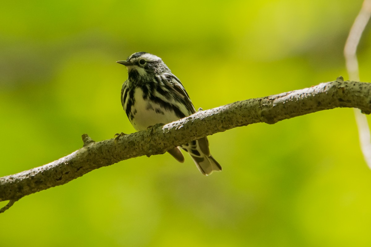
[{"label": "small black-and-white streaked bird perched on the branch", "polygon": [[[183,84],[160,57],[142,51],[116,63],[123,64],[128,70],[128,79],[122,84],[121,104],[135,130],[146,130],[196,113]],[[190,154],[202,174],[207,176],[213,171],[221,171],[220,164],[210,154],[207,137],[180,148]],[[180,148],[167,152],[183,163]]]}]

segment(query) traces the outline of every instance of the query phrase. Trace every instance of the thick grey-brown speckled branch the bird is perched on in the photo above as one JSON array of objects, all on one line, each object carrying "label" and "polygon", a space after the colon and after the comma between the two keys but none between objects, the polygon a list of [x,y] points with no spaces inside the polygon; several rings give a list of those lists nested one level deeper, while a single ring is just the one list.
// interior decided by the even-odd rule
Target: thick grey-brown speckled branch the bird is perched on
[{"label": "thick grey-brown speckled branch the bird is perched on", "polygon": [[[371,113],[371,84],[356,81],[321,83],[310,88],[237,101],[197,113],[164,126],[95,142],[82,136],[83,147],[44,166],[0,178],[0,201],[66,184],[94,169],[138,156],[151,156],[189,141],[253,123],[274,124],[336,107],[354,107]],[[9,205],[9,204],[8,204]],[[10,206],[7,206],[9,208]],[[6,209],[7,209],[6,208]],[[5,211],[5,210],[0,210]]]}]

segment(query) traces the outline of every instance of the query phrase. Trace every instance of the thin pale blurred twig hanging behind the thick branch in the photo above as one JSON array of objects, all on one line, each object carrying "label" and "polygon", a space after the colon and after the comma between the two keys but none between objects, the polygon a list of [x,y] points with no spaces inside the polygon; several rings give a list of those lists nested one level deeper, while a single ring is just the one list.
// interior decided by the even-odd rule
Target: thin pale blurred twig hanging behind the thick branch
[{"label": "thin pale blurred twig hanging behind the thick branch", "polygon": [[[370,20],[371,0],[364,0],[361,11],[359,11],[344,47],[345,64],[350,80],[359,81],[359,69],[357,60],[357,46],[362,37],[362,33]],[[354,109],[355,120],[358,127],[359,144],[364,159],[371,168],[371,138],[370,128],[368,127],[367,118],[358,109]]]}]

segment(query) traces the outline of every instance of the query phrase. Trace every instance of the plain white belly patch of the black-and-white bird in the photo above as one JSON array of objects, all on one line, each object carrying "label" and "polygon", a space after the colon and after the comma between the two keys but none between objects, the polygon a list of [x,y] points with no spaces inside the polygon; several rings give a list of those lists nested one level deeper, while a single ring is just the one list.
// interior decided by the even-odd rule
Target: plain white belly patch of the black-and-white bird
[{"label": "plain white belly patch of the black-and-white bird", "polygon": [[130,122],[137,131],[145,130],[155,124],[167,124],[179,120],[173,111],[164,109],[149,100],[144,100],[143,91],[139,87],[135,89],[134,99],[135,102],[131,110],[134,118]]}]

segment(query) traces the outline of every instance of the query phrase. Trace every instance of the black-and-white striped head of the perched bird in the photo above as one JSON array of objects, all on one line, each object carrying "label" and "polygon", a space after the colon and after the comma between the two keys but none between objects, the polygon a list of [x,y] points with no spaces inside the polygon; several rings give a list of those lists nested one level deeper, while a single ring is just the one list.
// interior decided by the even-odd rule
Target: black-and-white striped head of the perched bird
[{"label": "black-and-white striped head of the perched bird", "polygon": [[117,61],[128,69],[129,78],[151,78],[154,74],[170,72],[166,64],[157,57],[148,52],[137,52],[128,57],[126,61]]}]

